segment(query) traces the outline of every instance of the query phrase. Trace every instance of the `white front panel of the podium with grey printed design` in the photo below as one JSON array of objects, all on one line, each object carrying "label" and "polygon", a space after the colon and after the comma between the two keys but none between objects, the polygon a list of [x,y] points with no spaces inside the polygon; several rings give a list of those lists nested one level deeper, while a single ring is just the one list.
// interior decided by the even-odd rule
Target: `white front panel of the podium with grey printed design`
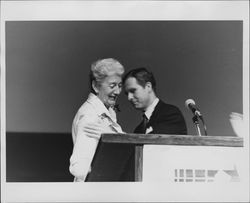
[{"label": "white front panel of the podium with grey printed design", "polygon": [[143,182],[237,182],[244,178],[243,148],[145,145]]}]

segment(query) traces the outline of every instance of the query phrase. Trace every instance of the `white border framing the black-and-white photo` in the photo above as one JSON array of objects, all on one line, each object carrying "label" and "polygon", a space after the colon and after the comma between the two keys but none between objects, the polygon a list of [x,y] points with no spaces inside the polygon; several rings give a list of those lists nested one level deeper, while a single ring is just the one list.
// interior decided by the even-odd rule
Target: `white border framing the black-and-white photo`
[{"label": "white border framing the black-and-white photo", "polygon": [[[242,20],[243,114],[245,133],[249,135],[249,1],[1,1],[1,199],[3,202],[249,201],[249,174],[246,183],[232,185],[6,183],[5,24],[6,21],[51,20]],[[248,136],[244,140],[244,148],[244,160],[249,171]],[[224,192],[220,192],[221,187],[225,188]]]}]

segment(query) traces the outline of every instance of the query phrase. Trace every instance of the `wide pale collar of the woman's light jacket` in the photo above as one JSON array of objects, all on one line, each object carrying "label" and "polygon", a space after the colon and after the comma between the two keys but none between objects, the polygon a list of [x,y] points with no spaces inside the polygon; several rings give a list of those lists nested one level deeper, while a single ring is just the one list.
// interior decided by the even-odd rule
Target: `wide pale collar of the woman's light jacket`
[{"label": "wide pale collar of the woman's light jacket", "polygon": [[116,122],[115,111],[111,107],[107,109],[103,102],[95,94],[90,93],[87,102],[95,107],[95,110],[99,116],[105,113],[108,117]]}]

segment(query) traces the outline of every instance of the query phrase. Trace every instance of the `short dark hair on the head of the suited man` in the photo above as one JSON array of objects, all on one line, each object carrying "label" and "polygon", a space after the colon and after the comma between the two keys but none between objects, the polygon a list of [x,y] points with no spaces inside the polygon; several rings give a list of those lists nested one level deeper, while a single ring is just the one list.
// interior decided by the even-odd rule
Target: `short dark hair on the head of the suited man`
[{"label": "short dark hair on the head of the suited man", "polygon": [[137,80],[137,83],[141,85],[142,87],[145,87],[147,82],[150,82],[152,84],[152,88],[154,91],[156,91],[156,82],[155,78],[152,72],[148,71],[146,68],[136,68],[133,70],[130,70],[128,73],[125,74],[123,77],[123,84],[128,78],[135,78]]}]

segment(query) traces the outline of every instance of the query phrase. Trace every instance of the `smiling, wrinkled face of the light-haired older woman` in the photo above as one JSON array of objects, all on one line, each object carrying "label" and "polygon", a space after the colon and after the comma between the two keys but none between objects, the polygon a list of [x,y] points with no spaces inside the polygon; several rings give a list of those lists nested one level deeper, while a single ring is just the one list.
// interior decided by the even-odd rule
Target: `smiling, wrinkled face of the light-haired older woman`
[{"label": "smiling, wrinkled face of the light-haired older woman", "polygon": [[118,75],[107,76],[95,89],[97,97],[107,108],[114,106],[122,90],[122,78]]}]

